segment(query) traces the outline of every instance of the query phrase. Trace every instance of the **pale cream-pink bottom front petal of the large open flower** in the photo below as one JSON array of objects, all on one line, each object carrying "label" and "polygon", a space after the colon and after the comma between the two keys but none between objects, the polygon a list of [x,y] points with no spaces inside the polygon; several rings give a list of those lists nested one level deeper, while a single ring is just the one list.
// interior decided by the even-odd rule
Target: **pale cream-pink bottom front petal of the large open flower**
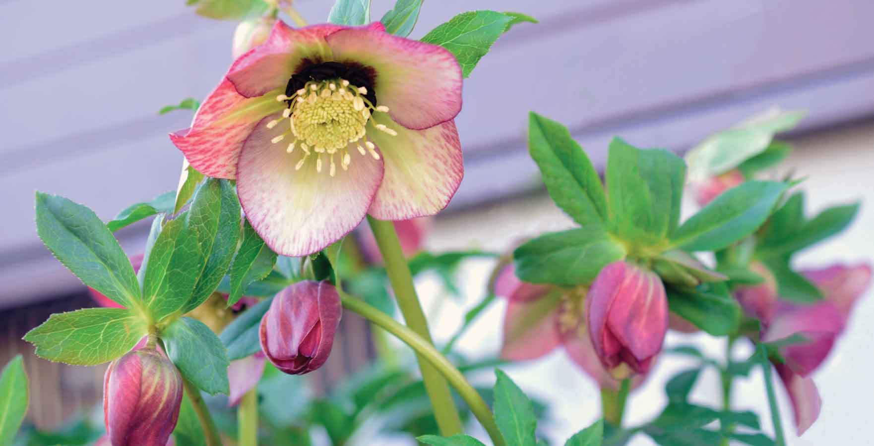
[{"label": "pale cream-pink bottom front petal of the large open flower", "polygon": [[313,153],[296,170],[302,149],[288,154],[288,140],[271,143],[286,131],[284,126],[267,129],[267,121],[278,117],[262,120],[243,145],[237,168],[239,202],[249,223],[272,250],[284,256],[306,256],[361,223],[382,182],[383,162],[356,152],[349,170],[337,166],[332,177],[327,155],[322,155],[324,167],[317,173]]}]

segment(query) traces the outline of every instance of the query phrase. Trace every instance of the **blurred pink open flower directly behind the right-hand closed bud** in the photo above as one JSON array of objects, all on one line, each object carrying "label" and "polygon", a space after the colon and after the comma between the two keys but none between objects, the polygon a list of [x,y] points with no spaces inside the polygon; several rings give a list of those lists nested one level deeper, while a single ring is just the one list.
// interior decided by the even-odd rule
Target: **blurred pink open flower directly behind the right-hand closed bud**
[{"label": "blurred pink open flower directly behind the right-hand closed bud", "polygon": [[[495,293],[507,298],[503,358],[534,360],[563,346],[571,360],[600,388],[619,388],[620,381],[601,366],[589,339],[584,311],[585,287],[569,290],[522,282],[510,264],[497,276]],[[640,376],[632,384],[637,386],[642,381],[643,376]]]}]

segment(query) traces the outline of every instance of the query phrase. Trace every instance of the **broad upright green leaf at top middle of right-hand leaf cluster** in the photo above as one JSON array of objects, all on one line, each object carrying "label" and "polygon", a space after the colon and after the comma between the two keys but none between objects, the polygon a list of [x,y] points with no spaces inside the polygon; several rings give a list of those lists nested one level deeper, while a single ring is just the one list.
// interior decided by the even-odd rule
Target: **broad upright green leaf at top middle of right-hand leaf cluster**
[{"label": "broad upright green leaf at top middle of right-hand leaf cluster", "polygon": [[608,202],[617,237],[658,244],[676,228],[686,168],[667,150],[641,150],[619,138],[607,155]]}]

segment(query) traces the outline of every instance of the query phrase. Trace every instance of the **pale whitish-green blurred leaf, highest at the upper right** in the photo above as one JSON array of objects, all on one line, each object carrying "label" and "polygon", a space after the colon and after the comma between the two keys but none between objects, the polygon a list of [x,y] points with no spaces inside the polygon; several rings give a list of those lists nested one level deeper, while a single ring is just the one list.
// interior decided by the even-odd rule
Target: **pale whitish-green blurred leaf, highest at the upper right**
[{"label": "pale whitish-green blurred leaf, highest at the upper right", "polygon": [[772,109],[708,137],[686,154],[690,179],[702,181],[738,167],[768,148],[774,134],[795,127],[805,114]]}]

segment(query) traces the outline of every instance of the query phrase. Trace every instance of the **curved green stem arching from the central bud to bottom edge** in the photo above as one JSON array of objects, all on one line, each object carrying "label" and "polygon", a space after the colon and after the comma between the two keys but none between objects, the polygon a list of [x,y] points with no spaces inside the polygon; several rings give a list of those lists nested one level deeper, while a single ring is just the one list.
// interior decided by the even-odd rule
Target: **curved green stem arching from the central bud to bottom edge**
[{"label": "curved green stem arching from the central bud to bottom edge", "polygon": [[[452,384],[452,387],[455,388],[455,391],[461,395],[461,399],[468,404],[468,408],[473,412],[476,420],[489,433],[492,443],[495,446],[504,446],[503,436],[501,436],[501,431],[497,429],[497,423],[489,405],[486,404],[486,401],[482,400],[482,396],[476,392],[475,388],[464,378],[464,375],[452,365],[452,362],[449,362],[445,356],[440,354],[431,342],[425,340],[418,333],[413,332],[412,329],[403,326],[397,320],[392,319],[384,312],[380,312],[371,305],[367,305],[363,300],[352,298],[344,292],[341,293],[341,298],[343,298],[343,308],[350,312],[356,312],[365,319],[370,320],[374,325],[382,327],[388,333],[392,333],[399,340],[406,343],[407,346],[413,348],[418,353],[419,358],[427,361],[431,369],[445,377]],[[442,382],[445,383],[446,381]],[[457,412],[455,414],[457,416]]]}]

